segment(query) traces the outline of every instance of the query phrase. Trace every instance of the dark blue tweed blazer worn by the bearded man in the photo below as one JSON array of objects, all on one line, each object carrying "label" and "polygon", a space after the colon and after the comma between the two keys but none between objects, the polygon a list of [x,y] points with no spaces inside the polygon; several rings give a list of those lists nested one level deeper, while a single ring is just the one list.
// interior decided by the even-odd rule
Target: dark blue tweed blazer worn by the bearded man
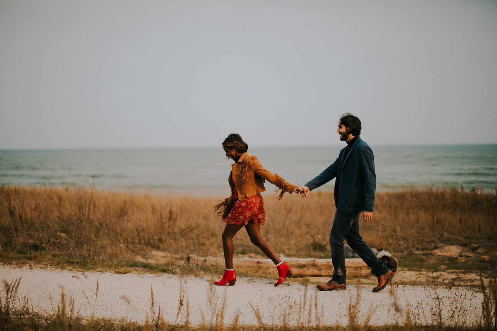
[{"label": "dark blue tweed blazer worn by the bearded man", "polygon": [[333,164],[306,186],[312,191],[336,177],[334,198],[338,209],[343,212],[373,211],[376,191],[373,151],[361,137],[357,137],[344,159],[345,148],[340,150]]}]

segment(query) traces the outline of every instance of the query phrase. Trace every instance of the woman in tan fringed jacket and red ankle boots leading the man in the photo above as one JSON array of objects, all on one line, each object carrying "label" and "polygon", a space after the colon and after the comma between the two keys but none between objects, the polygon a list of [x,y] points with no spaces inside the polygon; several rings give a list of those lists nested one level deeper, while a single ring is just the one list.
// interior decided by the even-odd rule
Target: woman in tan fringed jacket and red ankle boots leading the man
[{"label": "woman in tan fringed jacket and red ankle boots leading the man", "polygon": [[230,134],[223,141],[223,149],[226,157],[235,161],[232,164],[232,171],[228,177],[231,187],[230,198],[225,199],[215,208],[218,214],[223,215],[226,226],[223,232],[223,250],[226,270],[223,278],[216,281],[216,285],[235,285],[237,276],[233,269],[233,237],[245,226],[252,244],[271,259],[278,270],[278,281],[274,284],[281,284],[286,277],[292,275],[290,267],[276,256],[271,245],[260,236],[260,226],[264,224],[265,213],[262,197],[259,193],[264,192],[264,180],[276,185],[281,190],[278,199],[281,199],[285,192],[292,193],[295,185],[287,183],[278,175],[272,174],[264,169],[255,156],[247,154],[248,145],[243,141],[238,133]]}]

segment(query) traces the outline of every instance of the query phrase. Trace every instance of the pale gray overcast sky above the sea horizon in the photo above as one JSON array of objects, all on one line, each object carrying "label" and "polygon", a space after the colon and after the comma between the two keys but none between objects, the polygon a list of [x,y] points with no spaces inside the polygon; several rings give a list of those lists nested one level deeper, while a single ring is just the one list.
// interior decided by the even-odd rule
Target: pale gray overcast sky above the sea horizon
[{"label": "pale gray overcast sky above the sea horizon", "polygon": [[497,1],[0,0],[0,149],[497,143]]}]

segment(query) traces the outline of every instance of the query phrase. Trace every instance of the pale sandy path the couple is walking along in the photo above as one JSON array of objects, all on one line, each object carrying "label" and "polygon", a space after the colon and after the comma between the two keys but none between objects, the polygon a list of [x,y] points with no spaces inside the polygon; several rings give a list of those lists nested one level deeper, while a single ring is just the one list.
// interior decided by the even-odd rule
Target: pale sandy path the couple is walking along
[{"label": "pale sandy path the couple is walking along", "polygon": [[[364,321],[370,309],[375,309],[370,324],[385,325],[403,323],[406,312],[414,321],[431,323],[433,312],[442,311],[442,321],[451,323],[474,323],[481,313],[483,295],[463,288],[430,288],[420,286],[394,286],[400,310],[395,309],[391,286],[379,293],[372,293],[373,286],[347,285],[346,291],[321,292],[314,286],[306,287],[296,283],[283,283],[274,287],[265,280],[238,278],[235,286],[209,286],[209,279],[182,277],[163,274],[115,274],[110,272],[75,272],[68,270],[39,269],[28,267],[13,268],[0,265],[0,280],[10,282],[22,276],[18,295],[26,297],[38,312],[57,311],[57,304],[64,288],[66,301],[74,296],[75,308],[81,307],[81,316],[126,319],[144,322],[151,315],[151,286],[154,291],[156,309],[161,306],[161,315],[166,322],[183,323],[188,302],[189,321],[194,325],[202,323],[203,317],[210,324],[215,313],[220,311],[226,293],[225,324],[230,324],[239,314],[239,323],[257,325],[254,309],[261,312],[266,324],[282,324],[283,316],[287,323],[299,322],[307,325],[309,309],[310,324],[317,323],[316,316],[325,325],[348,323],[348,306],[355,302],[359,291],[359,322]],[[394,278],[395,280],[395,278]],[[95,290],[98,282],[98,295]],[[184,305],[179,310],[180,288],[184,290]],[[0,293],[3,297],[3,288]],[[210,295],[211,294],[211,295]],[[213,295],[212,295],[213,294]],[[217,300],[217,307],[211,309],[208,297]],[[312,297],[312,298],[311,298]],[[250,306],[250,304],[253,306]],[[316,313],[317,307],[317,313]],[[450,318],[449,315],[455,312]],[[300,315],[300,317],[299,317]]]}]

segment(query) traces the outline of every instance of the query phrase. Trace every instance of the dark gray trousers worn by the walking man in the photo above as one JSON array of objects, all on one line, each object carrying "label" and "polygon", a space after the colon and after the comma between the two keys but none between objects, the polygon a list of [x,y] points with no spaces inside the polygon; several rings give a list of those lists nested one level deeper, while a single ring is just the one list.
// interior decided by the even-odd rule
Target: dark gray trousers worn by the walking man
[{"label": "dark gray trousers worn by the walking man", "polygon": [[333,263],[333,280],[338,284],[345,284],[345,254],[343,253],[343,241],[368,265],[375,275],[388,272],[383,262],[378,260],[371,248],[362,240],[359,234],[359,216],[361,212],[343,212],[336,209],[333,225],[330,233],[331,262]]}]

